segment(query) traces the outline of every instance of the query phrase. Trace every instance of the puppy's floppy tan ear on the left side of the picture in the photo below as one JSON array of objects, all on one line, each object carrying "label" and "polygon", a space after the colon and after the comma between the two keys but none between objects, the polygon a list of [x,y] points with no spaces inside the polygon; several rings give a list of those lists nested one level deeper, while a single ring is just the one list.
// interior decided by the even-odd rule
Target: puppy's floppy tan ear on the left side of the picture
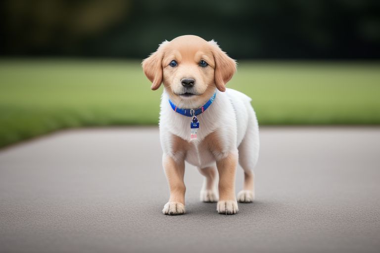
[{"label": "puppy's floppy tan ear on the left side of the picture", "polygon": [[150,86],[152,90],[158,89],[162,83],[163,45],[166,42],[167,41],[162,42],[157,48],[157,51],[142,61],[142,70],[149,81],[152,82],[152,86]]}]

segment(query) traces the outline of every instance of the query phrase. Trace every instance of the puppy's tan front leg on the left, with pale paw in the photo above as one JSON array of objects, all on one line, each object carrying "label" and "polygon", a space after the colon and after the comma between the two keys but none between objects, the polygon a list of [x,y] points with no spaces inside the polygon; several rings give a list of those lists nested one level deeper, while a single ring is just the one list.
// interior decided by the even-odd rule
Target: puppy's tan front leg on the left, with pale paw
[{"label": "puppy's tan front leg on the left, with pale paw", "polygon": [[162,164],[170,189],[169,202],[165,204],[162,212],[168,215],[184,214],[186,191],[184,183],[185,161],[183,159],[175,161],[170,156],[164,154]]}]

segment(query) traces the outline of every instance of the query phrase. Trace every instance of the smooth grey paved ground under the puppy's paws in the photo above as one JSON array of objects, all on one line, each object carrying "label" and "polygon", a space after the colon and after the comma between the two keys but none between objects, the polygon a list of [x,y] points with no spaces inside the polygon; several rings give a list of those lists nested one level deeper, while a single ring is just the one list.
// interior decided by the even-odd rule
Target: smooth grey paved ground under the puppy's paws
[{"label": "smooth grey paved ground under the puppy's paws", "polygon": [[[0,252],[379,252],[380,128],[262,128],[257,201],[168,198],[156,128],[64,131],[0,152]],[[238,187],[242,173],[238,170]]]}]

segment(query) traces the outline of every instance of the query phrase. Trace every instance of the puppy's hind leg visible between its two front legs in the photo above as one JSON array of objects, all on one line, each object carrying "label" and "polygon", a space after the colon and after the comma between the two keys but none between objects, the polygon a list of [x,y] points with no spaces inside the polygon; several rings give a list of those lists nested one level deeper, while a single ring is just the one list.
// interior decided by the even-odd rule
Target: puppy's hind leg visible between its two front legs
[{"label": "puppy's hind leg visible between its two front legs", "polygon": [[216,169],[215,167],[198,168],[199,172],[204,175],[202,189],[200,190],[200,201],[217,202],[218,194],[215,189]]}]

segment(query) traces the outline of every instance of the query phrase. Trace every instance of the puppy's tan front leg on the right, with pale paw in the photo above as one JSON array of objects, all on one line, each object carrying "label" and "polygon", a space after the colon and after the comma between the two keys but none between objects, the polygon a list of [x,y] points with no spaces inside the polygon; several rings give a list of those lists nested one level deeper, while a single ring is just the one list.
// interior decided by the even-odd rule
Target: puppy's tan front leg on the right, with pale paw
[{"label": "puppy's tan front leg on the right, with pale paw", "polygon": [[230,153],[226,158],[216,162],[219,171],[219,202],[217,211],[221,214],[238,212],[235,197],[235,174],[238,166],[238,154]]}]

